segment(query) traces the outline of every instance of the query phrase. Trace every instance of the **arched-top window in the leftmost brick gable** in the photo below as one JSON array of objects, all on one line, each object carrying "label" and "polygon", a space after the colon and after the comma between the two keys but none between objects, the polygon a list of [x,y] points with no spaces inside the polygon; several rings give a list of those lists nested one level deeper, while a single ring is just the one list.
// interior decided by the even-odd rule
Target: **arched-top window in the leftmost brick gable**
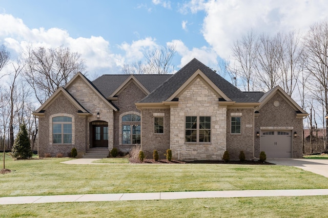
[{"label": "arched-top window in the leftmost brick gable", "polygon": [[54,144],[72,144],[72,117],[52,118],[52,141]]}]

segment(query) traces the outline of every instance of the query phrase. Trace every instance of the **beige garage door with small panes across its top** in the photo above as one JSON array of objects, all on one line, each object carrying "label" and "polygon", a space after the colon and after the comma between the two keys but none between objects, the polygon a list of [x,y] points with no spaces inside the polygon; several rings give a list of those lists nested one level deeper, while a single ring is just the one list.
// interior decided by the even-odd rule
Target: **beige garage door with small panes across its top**
[{"label": "beige garage door with small panes across its top", "polygon": [[292,131],[262,130],[260,151],[267,157],[292,157]]}]

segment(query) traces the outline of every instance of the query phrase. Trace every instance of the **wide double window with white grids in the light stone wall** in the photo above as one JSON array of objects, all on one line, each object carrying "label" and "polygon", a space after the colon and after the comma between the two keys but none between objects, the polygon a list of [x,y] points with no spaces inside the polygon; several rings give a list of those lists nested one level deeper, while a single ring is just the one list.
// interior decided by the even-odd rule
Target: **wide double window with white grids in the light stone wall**
[{"label": "wide double window with white grids in the light stone wall", "polygon": [[211,142],[211,116],[186,116],[186,142]]}]

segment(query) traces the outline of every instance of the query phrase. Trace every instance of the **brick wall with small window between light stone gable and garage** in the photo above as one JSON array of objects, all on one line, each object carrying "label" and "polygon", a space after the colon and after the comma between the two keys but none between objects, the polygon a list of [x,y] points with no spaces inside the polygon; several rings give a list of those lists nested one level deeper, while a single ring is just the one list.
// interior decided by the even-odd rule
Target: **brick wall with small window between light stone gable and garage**
[{"label": "brick wall with small window between light stone gable and garage", "polygon": [[[241,133],[231,134],[231,117],[241,117]],[[239,160],[239,153],[243,151],[246,160],[253,159],[254,147],[254,109],[227,110],[227,151],[231,160]]]}]

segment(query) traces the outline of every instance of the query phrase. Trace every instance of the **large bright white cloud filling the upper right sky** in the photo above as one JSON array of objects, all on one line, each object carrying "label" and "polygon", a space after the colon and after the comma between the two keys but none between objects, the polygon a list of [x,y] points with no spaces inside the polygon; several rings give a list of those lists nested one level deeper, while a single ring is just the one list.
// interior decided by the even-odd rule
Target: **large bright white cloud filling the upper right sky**
[{"label": "large bright white cloud filling the upper right sky", "polygon": [[229,58],[236,39],[251,29],[254,33],[306,32],[310,25],[327,18],[325,1],[307,0],[192,0],[180,8],[181,13],[204,11],[202,33],[211,47]]}]

